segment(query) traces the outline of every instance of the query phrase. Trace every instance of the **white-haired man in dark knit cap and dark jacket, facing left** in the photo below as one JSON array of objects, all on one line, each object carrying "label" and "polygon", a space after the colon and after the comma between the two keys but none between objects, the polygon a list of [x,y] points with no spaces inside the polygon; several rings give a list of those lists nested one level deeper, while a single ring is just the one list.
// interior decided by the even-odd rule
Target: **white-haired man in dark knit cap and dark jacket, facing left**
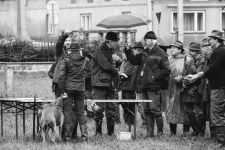
[{"label": "white-haired man in dark knit cap and dark jacket, facing left", "polygon": [[[146,138],[154,136],[154,124],[158,128],[158,136],[163,134],[163,117],[161,110],[161,89],[165,85],[166,78],[169,78],[170,67],[166,53],[159,48],[157,37],[153,31],[144,36],[145,46],[141,53],[133,54],[131,49],[125,51],[128,60],[134,65],[140,65],[138,77],[135,80],[141,81],[142,98],[152,100],[151,103],[144,103],[144,112],[147,121]],[[136,82],[132,82],[136,83]]]}]

